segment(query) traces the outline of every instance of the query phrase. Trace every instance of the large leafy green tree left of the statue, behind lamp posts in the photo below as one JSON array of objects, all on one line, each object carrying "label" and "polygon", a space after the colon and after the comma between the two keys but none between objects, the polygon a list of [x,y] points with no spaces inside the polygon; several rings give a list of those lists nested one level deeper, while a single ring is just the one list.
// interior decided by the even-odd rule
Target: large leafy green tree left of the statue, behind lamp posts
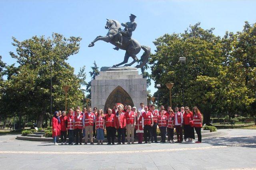
[{"label": "large leafy green tree left of the statue, behind lamp posts", "polygon": [[13,92],[12,100],[16,101],[16,113],[19,116],[30,114],[37,116],[38,127],[46,112],[50,113],[50,63],[52,66],[52,98],[53,109],[64,110],[65,95],[63,85],[71,86],[68,91],[68,107],[81,104],[82,92],[78,90],[83,79],[74,74],[66,60],[78,53],[80,37],[65,38],[58,33],[52,37],[33,36],[24,41],[12,38],[16,53],[10,52],[12,58],[17,59],[18,74],[11,76],[7,83]]}]

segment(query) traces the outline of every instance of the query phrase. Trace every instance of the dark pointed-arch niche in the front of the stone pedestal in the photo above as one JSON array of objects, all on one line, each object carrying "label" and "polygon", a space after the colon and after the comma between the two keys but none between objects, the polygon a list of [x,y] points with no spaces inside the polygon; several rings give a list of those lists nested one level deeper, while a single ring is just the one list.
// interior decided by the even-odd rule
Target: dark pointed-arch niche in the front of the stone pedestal
[{"label": "dark pointed-arch niche in the front of the stone pedestal", "polygon": [[123,105],[130,105],[130,106],[134,106],[133,102],[132,102],[132,98],[130,97],[130,95],[121,87],[121,86],[117,86],[108,96],[108,99],[106,100],[105,106],[104,106],[104,111],[106,111],[106,109],[108,107],[110,107],[111,109],[113,109],[114,104],[116,103],[122,103]]}]

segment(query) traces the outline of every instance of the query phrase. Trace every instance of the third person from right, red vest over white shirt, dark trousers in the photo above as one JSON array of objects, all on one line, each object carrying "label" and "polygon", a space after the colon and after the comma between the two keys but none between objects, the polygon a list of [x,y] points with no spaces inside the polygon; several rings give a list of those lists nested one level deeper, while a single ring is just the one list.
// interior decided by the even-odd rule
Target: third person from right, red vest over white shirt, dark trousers
[{"label": "third person from right, red vest over white shirt, dark trousers", "polygon": [[176,143],[182,143],[183,135],[182,135],[182,124],[183,124],[183,116],[179,111],[179,107],[174,108],[174,125],[177,133],[177,141]]}]

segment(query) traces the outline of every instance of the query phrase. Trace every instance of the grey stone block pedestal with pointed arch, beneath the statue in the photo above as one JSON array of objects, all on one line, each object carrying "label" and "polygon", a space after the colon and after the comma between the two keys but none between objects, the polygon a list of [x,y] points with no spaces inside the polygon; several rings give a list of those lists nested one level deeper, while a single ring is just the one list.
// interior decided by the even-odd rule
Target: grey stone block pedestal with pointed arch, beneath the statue
[{"label": "grey stone block pedestal with pointed arch, beneath the statue", "polygon": [[92,107],[113,108],[115,103],[132,105],[140,108],[140,103],[147,104],[146,78],[138,70],[100,71],[92,80]]}]

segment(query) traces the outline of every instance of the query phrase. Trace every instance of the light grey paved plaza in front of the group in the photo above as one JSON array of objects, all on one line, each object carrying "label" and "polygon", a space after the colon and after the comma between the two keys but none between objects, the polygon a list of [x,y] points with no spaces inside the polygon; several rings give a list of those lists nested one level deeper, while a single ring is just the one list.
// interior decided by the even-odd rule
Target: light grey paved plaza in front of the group
[{"label": "light grey paved plaza in front of the group", "polygon": [[195,143],[58,145],[0,136],[0,169],[256,169],[256,130],[221,129]]}]

